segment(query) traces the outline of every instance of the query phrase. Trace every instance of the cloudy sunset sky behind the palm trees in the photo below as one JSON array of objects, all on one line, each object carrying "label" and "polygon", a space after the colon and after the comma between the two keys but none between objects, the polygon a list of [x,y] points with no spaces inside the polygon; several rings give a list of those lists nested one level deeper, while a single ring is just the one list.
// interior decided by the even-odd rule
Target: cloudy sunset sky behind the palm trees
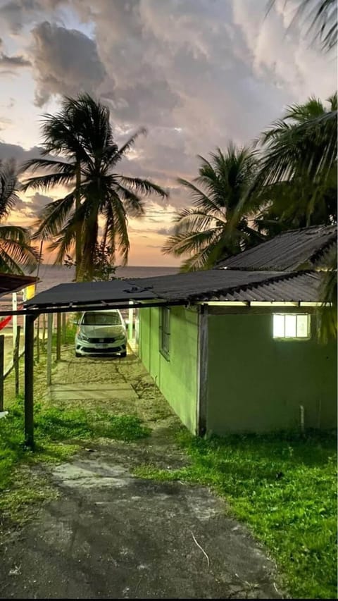
[{"label": "cloudy sunset sky behind the palm trees", "polygon": [[[336,58],[294,23],[297,4],[0,0],[0,159],[38,156],[41,116],[63,94],[94,94],[111,110],[118,143],[147,130],[120,172],[170,194],[130,219],[129,264],[177,265],[161,247],[175,211],[191,204],[177,178],[196,177],[197,155],[250,144],[289,104],[337,89]],[[62,192],[27,192],[10,223],[30,225]]]}]

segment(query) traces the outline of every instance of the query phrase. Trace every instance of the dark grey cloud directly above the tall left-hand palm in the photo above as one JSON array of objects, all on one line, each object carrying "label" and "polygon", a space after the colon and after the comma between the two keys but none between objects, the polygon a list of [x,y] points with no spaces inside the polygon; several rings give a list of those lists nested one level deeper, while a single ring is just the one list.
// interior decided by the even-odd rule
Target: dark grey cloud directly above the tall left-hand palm
[{"label": "dark grey cloud directly above the tall left-hand palm", "polygon": [[96,42],[80,31],[48,21],[34,27],[32,36],[38,106],[43,106],[52,94],[96,92],[106,74]]}]

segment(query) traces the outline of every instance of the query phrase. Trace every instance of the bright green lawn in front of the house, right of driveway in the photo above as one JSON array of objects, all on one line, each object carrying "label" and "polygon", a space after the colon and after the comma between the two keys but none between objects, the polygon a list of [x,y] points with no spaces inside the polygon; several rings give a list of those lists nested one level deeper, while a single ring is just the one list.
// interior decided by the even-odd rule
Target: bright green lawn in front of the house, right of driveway
[{"label": "bright green lawn in front of the house, right of driveway", "polygon": [[337,441],[288,435],[201,440],[180,434],[191,463],[137,476],[207,485],[275,558],[292,598],[337,599]]}]

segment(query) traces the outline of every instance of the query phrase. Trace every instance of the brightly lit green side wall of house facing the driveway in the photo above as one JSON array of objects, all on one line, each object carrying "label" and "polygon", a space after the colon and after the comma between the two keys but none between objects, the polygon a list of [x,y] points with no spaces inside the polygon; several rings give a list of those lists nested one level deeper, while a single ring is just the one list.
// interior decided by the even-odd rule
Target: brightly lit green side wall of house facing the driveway
[{"label": "brightly lit green side wall of house facing the driveway", "polygon": [[198,316],[184,307],[170,310],[169,361],[159,352],[160,309],[139,311],[139,356],[181,421],[196,432]]}]

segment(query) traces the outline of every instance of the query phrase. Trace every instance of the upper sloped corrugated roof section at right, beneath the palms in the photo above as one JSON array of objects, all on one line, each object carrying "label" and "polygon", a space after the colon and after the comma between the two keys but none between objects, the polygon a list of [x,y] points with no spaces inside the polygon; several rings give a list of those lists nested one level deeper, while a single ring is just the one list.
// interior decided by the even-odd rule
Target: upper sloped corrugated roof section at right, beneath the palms
[{"label": "upper sloped corrugated roof section at right, beneath the palms", "polygon": [[325,266],[327,252],[337,244],[337,225],[289,230],[268,242],[220,261],[218,268],[294,271]]}]

